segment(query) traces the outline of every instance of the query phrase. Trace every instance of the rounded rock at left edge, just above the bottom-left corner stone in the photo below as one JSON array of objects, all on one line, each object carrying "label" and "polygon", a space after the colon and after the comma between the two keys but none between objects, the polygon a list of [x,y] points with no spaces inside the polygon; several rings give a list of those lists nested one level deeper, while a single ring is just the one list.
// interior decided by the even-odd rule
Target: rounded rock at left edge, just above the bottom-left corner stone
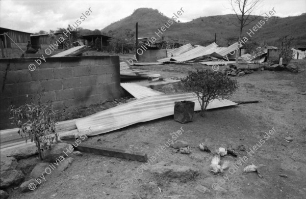
[{"label": "rounded rock at left edge, just above the bottom-left corner stone", "polygon": [[21,170],[4,170],[1,172],[0,187],[7,188],[11,185],[17,185],[23,181],[24,175]]}]

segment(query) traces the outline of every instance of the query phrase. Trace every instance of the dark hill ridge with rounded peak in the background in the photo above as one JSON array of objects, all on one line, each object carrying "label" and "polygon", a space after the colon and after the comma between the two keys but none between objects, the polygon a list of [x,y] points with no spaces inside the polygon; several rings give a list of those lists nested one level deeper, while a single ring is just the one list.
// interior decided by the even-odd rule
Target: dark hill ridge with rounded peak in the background
[{"label": "dark hill ridge with rounded peak in the background", "polygon": [[[103,30],[104,33],[114,32],[120,29],[135,30],[135,24],[138,22],[138,36],[152,37],[157,35],[157,29],[160,29],[170,18],[160,13],[158,10],[150,8],[139,8],[130,16],[120,21],[114,22]],[[263,17],[259,17],[256,21],[244,27],[243,35],[247,35],[249,29],[256,25]],[[252,41],[257,41],[261,45],[266,42],[268,45],[281,46],[278,41],[284,35],[290,35],[294,38],[292,46],[306,46],[306,15],[294,17],[271,17],[252,37]],[[237,23],[237,17],[234,14],[218,15],[209,17],[199,17],[189,22],[173,23],[169,29],[163,32],[164,39],[172,38],[192,44],[207,45],[214,41],[215,33],[217,33],[217,44],[228,46],[233,42],[229,42],[231,38],[237,38],[239,29],[233,23]],[[111,32],[110,32],[111,33]],[[161,39],[161,38],[159,38]]]}]

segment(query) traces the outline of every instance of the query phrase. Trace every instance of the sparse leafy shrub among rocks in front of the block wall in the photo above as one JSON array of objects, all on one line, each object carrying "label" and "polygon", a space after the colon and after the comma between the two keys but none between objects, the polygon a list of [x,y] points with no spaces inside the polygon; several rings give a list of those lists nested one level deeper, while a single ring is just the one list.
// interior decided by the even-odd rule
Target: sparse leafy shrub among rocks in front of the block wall
[{"label": "sparse leafy shrub among rocks in front of the block wall", "polygon": [[51,102],[28,103],[18,108],[10,106],[10,118],[19,128],[18,134],[35,142],[39,157],[42,160],[41,151],[56,145],[58,135],[55,133],[55,120],[59,111],[55,111]]}]

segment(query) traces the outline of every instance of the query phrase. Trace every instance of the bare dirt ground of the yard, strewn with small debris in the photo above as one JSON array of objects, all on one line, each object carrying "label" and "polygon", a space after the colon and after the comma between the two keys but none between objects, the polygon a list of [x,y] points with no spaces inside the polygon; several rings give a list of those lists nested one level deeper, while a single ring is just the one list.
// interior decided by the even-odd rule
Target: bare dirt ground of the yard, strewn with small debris
[{"label": "bare dirt ground of the yard, strewn with small debris", "polygon": [[[230,100],[259,100],[259,103],[212,109],[205,117],[197,112],[193,122],[186,124],[174,122],[173,116],[165,117],[93,136],[85,143],[146,152],[148,157],[156,156],[153,164],[166,161],[192,166],[200,170],[195,179],[169,179],[146,171],[139,174],[137,168],[142,162],[82,152],[83,157],[74,157],[72,165],[62,173],[54,170],[34,191],[21,193],[19,189],[10,189],[9,198],[305,198],[306,61],[294,63],[299,66],[299,73],[258,70],[234,77],[240,87]],[[163,77],[183,77],[189,70],[210,67],[170,64],[133,68],[160,73]],[[89,112],[92,111],[95,110]],[[179,139],[188,142],[191,154],[174,153],[168,147],[157,156],[155,151],[181,127],[184,132]],[[257,151],[250,153],[250,148],[259,145],[265,132],[272,128],[276,132]],[[293,137],[291,143],[284,139],[288,135]],[[197,148],[202,142],[212,150],[233,147],[239,157],[246,156],[248,160],[238,167],[232,165],[235,172],[226,170],[222,175],[214,175],[209,168],[213,155]],[[240,160],[228,155],[222,157],[225,159],[233,164]],[[18,161],[27,174],[25,180],[30,179],[28,176],[39,161],[38,157]],[[243,172],[251,163],[261,166],[263,178],[256,172]],[[281,174],[288,178],[279,176]],[[122,183],[126,183],[124,189],[120,188]],[[207,187],[209,192],[199,192],[195,189],[198,185]],[[214,190],[213,186],[222,187],[226,192]]]}]

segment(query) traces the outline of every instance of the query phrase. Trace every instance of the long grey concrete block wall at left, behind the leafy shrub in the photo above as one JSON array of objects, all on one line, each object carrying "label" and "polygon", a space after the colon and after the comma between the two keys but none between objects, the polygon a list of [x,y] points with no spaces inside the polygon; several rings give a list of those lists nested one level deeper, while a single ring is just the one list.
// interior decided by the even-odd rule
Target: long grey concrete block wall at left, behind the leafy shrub
[{"label": "long grey concrete block wall at left, behind the leafy shrub", "polygon": [[[8,107],[20,106],[32,98],[53,101],[56,109],[77,108],[120,97],[119,56],[68,56],[45,58],[1,59],[0,129],[9,124]],[[29,65],[35,64],[34,71]]]}]

